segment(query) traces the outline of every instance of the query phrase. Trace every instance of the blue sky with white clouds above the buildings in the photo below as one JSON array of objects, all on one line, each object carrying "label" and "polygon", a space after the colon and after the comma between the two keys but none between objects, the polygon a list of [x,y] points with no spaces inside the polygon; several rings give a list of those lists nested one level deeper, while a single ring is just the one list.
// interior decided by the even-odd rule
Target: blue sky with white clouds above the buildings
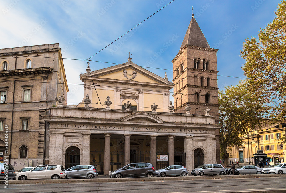
[{"label": "blue sky with white clouds above the buildings", "polygon": [[[88,59],[171,1],[0,1],[0,48],[59,43],[63,58]],[[278,3],[277,0],[175,0],[90,60],[121,64],[127,62],[130,52],[132,62],[139,66],[169,69],[146,68],[161,77],[167,71],[172,80],[171,61],[178,54],[193,6],[194,17],[210,47],[219,49],[218,87],[223,89],[240,80],[224,76],[244,77],[241,70],[244,60],[239,56],[243,42],[247,37],[257,37],[259,29],[273,21]],[[172,38],[176,40],[166,45]],[[164,53],[156,57],[160,49]],[[82,84],[79,74],[86,72],[86,62],[65,59],[64,65],[68,83]],[[113,64],[90,62],[91,70],[109,66]],[[82,85],[70,84],[69,90],[68,103],[82,101]]]}]

